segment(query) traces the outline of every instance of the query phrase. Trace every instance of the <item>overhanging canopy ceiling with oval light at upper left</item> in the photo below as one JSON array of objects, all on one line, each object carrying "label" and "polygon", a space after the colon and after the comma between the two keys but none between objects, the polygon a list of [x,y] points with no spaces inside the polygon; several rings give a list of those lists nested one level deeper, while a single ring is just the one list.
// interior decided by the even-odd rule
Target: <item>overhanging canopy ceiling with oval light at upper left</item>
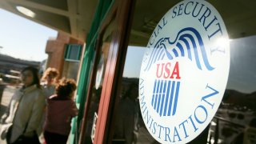
[{"label": "overhanging canopy ceiling with oval light at upper left", "polygon": [[[0,0],[0,8],[70,34],[82,42],[89,33],[98,0]],[[35,13],[30,18],[20,13],[16,6],[22,6]]]}]

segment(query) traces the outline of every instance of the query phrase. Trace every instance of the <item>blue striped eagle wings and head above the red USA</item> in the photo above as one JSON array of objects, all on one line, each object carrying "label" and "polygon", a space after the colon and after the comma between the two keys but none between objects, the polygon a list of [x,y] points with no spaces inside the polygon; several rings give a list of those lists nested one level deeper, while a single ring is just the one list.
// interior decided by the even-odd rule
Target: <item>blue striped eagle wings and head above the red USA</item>
[{"label": "blue striped eagle wings and head above the red USA", "polygon": [[170,38],[159,39],[154,45],[154,50],[151,52],[144,70],[150,70],[155,62],[165,57],[170,60],[178,57],[189,58],[190,61],[196,63],[199,70],[202,70],[203,67],[206,70],[214,70],[207,58],[201,35],[192,27],[180,30],[173,42]]}]

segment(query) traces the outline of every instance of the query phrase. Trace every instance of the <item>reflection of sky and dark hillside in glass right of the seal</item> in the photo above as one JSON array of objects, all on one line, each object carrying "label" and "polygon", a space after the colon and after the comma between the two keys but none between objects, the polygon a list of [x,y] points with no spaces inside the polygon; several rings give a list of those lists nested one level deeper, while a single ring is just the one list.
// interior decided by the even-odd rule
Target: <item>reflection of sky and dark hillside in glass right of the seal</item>
[{"label": "reflection of sky and dark hillside in glass right of the seal", "polygon": [[209,143],[256,143],[256,36],[230,41],[230,76]]}]

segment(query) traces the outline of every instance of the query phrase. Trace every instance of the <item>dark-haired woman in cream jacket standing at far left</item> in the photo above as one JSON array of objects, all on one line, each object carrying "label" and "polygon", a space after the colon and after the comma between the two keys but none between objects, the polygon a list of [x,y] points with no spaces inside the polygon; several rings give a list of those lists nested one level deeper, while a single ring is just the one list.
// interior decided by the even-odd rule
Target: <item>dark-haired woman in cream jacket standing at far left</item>
[{"label": "dark-haired woman in cream jacket standing at far left", "polygon": [[36,68],[22,70],[23,86],[14,93],[2,117],[1,138],[6,138],[7,143],[39,143],[38,126],[46,105],[39,82]]}]

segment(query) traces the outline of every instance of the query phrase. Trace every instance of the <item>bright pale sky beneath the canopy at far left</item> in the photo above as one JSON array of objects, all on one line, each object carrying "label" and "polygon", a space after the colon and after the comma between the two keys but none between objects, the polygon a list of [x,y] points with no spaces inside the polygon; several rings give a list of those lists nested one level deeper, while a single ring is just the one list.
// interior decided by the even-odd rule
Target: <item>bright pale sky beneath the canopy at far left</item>
[{"label": "bright pale sky beneath the canopy at far left", "polygon": [[46,42],[57,31],[0,9],[0,54],[42,62],[47,58]]}]

